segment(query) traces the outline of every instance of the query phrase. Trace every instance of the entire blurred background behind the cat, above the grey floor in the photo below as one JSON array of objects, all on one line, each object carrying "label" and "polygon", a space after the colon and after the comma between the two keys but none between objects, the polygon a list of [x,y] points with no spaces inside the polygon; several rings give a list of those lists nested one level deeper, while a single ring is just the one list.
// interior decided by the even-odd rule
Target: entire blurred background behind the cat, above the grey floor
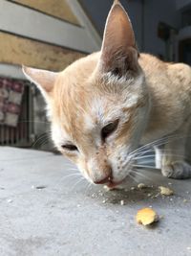
[{"label": "entire blurred background behind the cat, above the grey floor", "polygon": [[[0,146],[53,150],[21,64],[61,71],[98,51],[113,0],[0,0]],[[140,52],[191,64],[191,0],[121,0]]]}]

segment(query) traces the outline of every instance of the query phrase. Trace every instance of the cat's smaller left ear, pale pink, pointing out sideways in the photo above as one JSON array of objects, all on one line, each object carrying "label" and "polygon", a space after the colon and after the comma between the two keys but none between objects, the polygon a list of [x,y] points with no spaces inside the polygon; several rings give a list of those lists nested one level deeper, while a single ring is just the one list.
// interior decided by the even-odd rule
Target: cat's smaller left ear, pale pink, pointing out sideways
[{"label": "cat's smaller left ear, pale pink, pointing out sideways", "polygon": [[26,78],[36,84],[45,100],[48,101],[53,91],[57,73],[27,66],[22,66],[22,70]]}]

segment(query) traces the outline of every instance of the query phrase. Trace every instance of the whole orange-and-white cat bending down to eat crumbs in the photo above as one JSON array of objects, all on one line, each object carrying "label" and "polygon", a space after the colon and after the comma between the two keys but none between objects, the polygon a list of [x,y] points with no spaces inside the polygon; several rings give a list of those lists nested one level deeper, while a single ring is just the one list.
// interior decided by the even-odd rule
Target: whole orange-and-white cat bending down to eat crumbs
[{"label": "whole orange-and-white cat bending down to eat crumbs", "polygon": [[119,1],[109,12],[100,52],[63,72],[26,66],[23,72],[46,100],[55,146],[92,183],[117,188],[148,146],[162,175],[191,176],[185,151],[191,68],[140,54]]}]

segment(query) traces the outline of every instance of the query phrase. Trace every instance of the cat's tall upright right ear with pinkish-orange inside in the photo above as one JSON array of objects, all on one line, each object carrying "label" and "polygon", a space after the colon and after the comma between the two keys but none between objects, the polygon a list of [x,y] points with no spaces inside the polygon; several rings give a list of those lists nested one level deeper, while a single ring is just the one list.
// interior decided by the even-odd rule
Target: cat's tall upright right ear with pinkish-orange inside
[{"label": "cat's tall upright right ear with pinkish-orange inside", "polygon": [[131,21],[119,1],[115,1],[105,25],[99,68],[118,77],[138,71],[138,49]]}]

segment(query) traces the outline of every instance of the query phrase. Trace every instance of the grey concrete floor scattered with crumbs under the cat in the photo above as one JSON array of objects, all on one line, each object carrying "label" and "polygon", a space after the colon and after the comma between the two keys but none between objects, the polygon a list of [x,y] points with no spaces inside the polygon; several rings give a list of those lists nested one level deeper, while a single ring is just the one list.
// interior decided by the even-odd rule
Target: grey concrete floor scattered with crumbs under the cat
[{"label": "grey concrete floor scattered with crumbs under the cat", "polygon": [[[66,177],[74,173],[60,155],[0,148],[1,256],[191,255],[190,180],[150,170],[142,181],[154,188],[131,190],[130,182],[126,192],[105,192],[85,180],[76,183],[78,175]],[[176,195],[153,198],[161,184]],[[152,228],[135,221],[146,206],[161,217]]]}]

